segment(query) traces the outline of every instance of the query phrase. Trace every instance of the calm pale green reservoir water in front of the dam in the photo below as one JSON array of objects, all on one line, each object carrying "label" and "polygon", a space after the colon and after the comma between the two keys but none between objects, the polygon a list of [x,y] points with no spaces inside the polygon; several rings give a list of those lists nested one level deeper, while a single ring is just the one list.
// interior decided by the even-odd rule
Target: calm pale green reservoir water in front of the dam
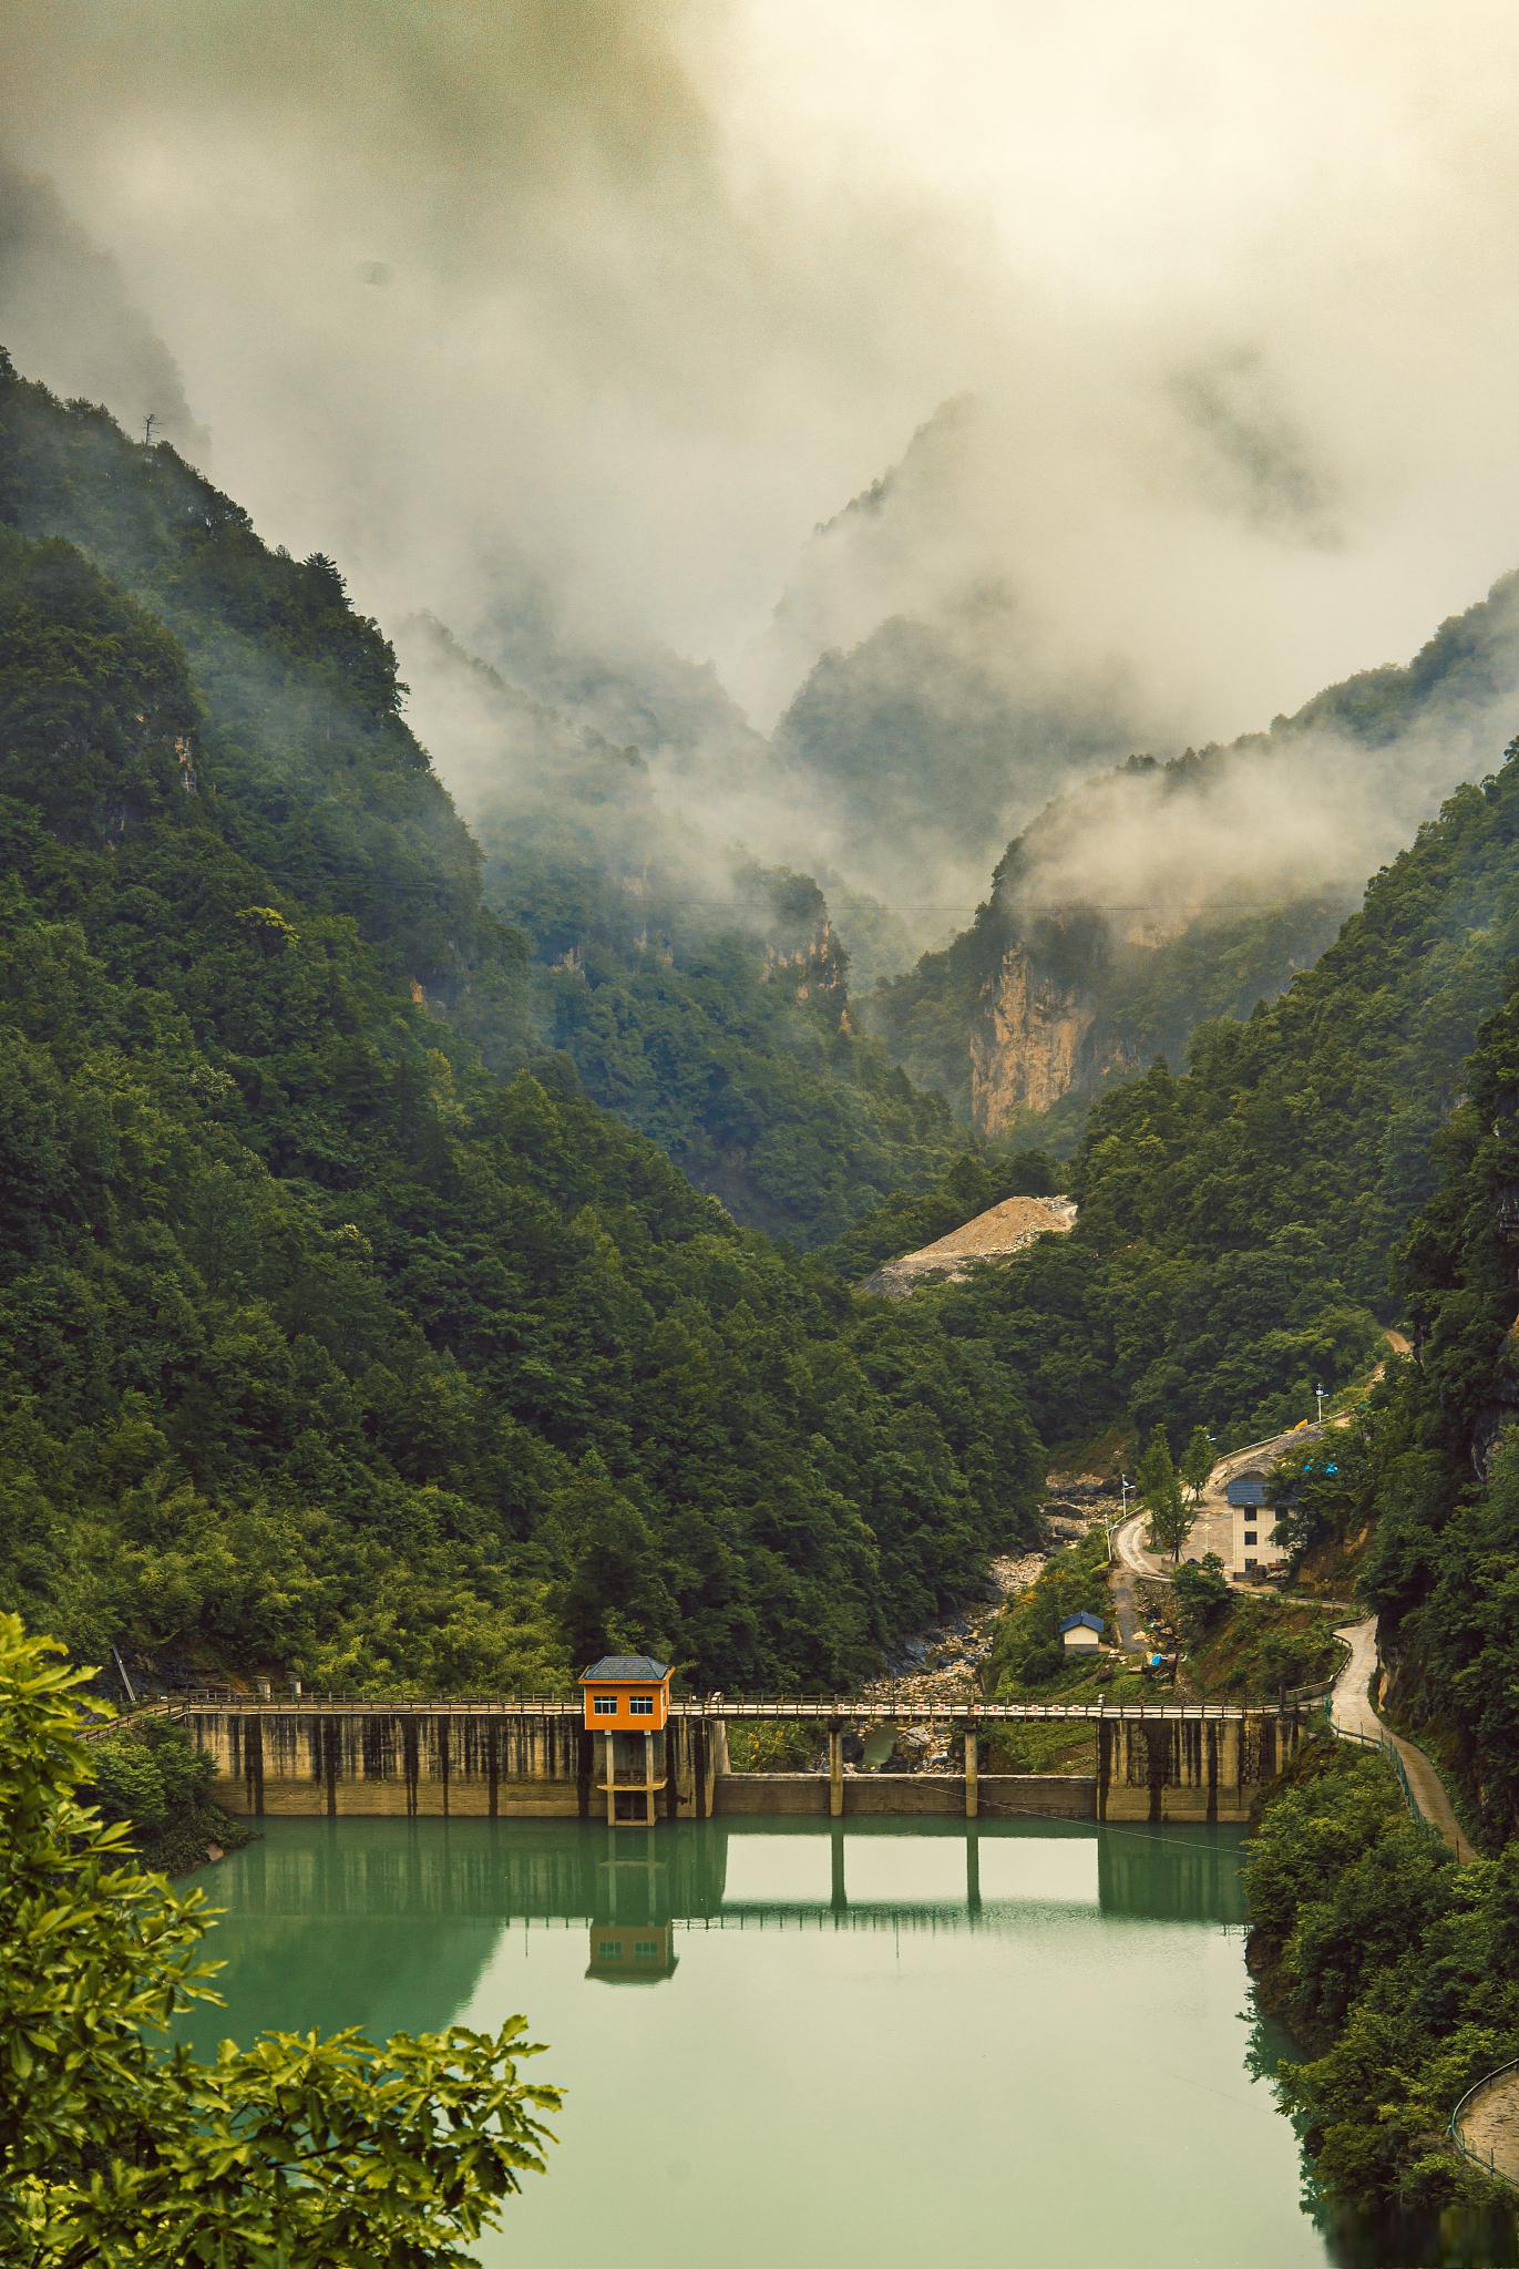
[{"label": "calm pale green reservoir water in front of the dam", "polygon": [[565,2087],[488,2264],[1310,2269],[1251,2081],[1240,1831],[266,1820],[209,2051],[527,2015]]}]

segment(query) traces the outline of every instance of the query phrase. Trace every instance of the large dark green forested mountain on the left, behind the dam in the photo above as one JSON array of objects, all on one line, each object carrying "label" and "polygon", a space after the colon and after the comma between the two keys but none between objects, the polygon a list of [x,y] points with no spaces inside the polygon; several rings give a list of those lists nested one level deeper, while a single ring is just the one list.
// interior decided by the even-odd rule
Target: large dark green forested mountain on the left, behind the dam
[{"label": "large dark green forested mountain on the left, behind the dam", "polygon": [[1026,1534],[1013,1370],[697,1193],[329,560],[0,370],[2,1597],[100,1659],[849,1679]]}]

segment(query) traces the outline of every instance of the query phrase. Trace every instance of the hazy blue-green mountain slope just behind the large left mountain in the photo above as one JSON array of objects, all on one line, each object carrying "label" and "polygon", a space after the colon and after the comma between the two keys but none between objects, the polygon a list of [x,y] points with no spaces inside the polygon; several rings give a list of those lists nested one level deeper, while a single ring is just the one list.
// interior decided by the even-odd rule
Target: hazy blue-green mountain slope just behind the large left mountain
[{"label": "hazy blue-green mountain slope just behind the large left mountain", "polygon": [[[440,624],[409,626],[406,669],[461,774],[486,903],[527,939],[536,1032],[593,1100],[802,1246],[967,1148],[947,1105],[858,1035],[849,955],[808,876],[704,835],[640,749],[531,699]],[[845,910],[870,939],[872,910]]]}]

